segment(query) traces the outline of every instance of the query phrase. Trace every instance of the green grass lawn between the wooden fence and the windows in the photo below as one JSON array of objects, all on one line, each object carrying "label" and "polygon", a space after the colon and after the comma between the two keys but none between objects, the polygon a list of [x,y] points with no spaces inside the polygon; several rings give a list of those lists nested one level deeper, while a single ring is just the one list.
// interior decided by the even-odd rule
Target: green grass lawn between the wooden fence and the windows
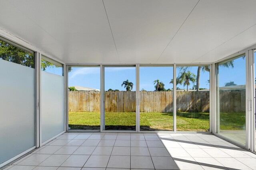
[{"label": "green grass lawn between the wooden fence and the windows", "polygon": [[[99,112],[69,112],[69,127],[71,129],[100,129]],[[221,130],[243,130],[245,113],[221,113]],[[106,112],[106,129],[128,129],[136,127],[134,112]],[[209,113],[177,112],[177,131],[208,131],[210,128]],[[148,112],[140,113],[141,131],[172,131],[172,113]]]}]

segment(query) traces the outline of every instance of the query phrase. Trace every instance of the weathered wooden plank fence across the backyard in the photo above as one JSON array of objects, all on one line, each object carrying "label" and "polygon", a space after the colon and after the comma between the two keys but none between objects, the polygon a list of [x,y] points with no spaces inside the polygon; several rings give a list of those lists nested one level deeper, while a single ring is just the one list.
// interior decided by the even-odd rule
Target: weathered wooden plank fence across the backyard
[{"label": "weathered wooden plank fence across the backyard", "polygon": [[[100,112],[100,92],[68,92],[69,111]],[[178,111],[209,112],[209,91],[176,92]],[[220,111],[245,111],[245,90],[220,92]],[[107,112],[135,112],[136,92],[105,92]],[[172,92],[140,92],[141,112],[172,112]]]}]

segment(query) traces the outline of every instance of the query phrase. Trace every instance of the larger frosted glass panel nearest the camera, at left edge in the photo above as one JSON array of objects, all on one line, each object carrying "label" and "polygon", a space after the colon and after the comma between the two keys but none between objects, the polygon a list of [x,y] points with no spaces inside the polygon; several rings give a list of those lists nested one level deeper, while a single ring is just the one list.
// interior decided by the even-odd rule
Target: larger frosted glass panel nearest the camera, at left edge
[{"label": "larger frosted glass panel nearest the camera, at left edge", "polygon": [[0,59],[0,164],[35,146],[35,69]]}]

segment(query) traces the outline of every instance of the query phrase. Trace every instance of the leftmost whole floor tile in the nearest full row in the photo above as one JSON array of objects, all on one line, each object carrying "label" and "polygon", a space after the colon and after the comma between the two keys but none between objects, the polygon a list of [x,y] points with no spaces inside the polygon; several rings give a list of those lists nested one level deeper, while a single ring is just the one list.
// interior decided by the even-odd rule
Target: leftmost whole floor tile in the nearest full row
[{"label": "leftmost whole floor tile in the nearest full row", "polygon": [[42,163],[46,158],[48,158],[50,154],[32,154],[25,160],[22,160],[17,165],[31,165],[31,166],[37,166],[40,163]]}]

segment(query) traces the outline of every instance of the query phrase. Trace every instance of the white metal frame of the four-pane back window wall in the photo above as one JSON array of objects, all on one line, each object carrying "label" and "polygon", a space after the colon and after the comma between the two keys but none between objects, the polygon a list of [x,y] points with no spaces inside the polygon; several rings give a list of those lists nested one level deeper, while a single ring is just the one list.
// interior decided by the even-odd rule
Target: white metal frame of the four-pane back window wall
[{"label": "white metal frame of the four-pane back window wall", "polygon": [[[210,131],[200,132],[200,131],[178,131],[178,133],[212,133],[212,122],[214,115],[212,113],[213,104],[212,104],[212,63],[171,63],[171,64],[66,64],[66,131],[68,132],[99,132],[99,130],[76,130],[68,129],[68,67],[93,67],[100,66],[100,132],[104,133],[177,133],[176,131],[176,100],[173,100],[173,131],[140,131],[140,66],[170,66],[173,68],[173,78],[174,84],[176,87],[176,66],[210,66]],[[136,131],[128,130],[105,130],[105,67],[127,67],[132,66],[136,68]],[[173,98],[176,99],[176,88],[173,88]]]}]

